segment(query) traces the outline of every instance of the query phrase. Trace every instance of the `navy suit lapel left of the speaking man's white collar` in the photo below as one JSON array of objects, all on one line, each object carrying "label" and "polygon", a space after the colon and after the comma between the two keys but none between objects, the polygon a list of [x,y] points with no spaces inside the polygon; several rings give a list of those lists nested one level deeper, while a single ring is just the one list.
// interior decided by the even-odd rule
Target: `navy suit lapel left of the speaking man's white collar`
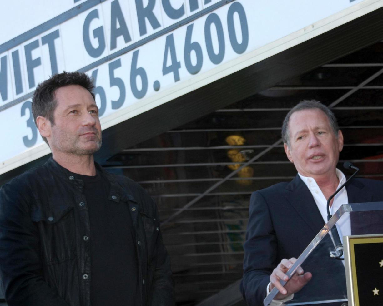
[{"label": "navy suit lapel left of the speaking man's white collar", "polygon": [[325,222],[313,195],[298,174],[286,187],[286,199],[314,234],[318,234]]}]

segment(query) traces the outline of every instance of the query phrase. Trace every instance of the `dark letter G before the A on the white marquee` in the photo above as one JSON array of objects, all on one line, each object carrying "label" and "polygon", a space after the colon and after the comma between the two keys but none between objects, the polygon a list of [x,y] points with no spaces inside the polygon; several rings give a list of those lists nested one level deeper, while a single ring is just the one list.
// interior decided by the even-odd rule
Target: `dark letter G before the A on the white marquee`
[{"label": "dark letter G before the A on the white marquee", "polygon": [[89,26],[90,26],[90,22],[95,18],[98,18],[98,10],[97,9],[91,11],[88,14],[88,16],[85,18],[84,26],[82,28],[82,37],[84,40],[84,46],[85,46],[85,49],[87,50],[88,54],[91,57],[99,57],[102,54],[102,52],[104,52],[104,50],[105,50],[105,37],[104,37],[104,31],[102,29],[102,26],[93,30],[93,37],[97,38],[98,47],[94,48],[92,46],[92,43],[90,42]]}]

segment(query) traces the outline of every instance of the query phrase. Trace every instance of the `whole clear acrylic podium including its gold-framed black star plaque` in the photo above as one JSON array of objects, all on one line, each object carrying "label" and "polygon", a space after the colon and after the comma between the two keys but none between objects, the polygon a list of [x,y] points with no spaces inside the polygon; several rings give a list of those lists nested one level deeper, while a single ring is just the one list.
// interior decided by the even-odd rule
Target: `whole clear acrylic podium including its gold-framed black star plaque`
[{"label": "whole clear acrylic podium including its gold-framed black star plaque", "polygon": [[[334,244],[329,231],[348,215],[352,236],[343,238],[343,261],[330,257]],[[383,202],[343,204],[288,270],[289,279],[298,266],[313,277],[284,305],[383,305]],[[278,292],[273,288],[264,305]]]}]

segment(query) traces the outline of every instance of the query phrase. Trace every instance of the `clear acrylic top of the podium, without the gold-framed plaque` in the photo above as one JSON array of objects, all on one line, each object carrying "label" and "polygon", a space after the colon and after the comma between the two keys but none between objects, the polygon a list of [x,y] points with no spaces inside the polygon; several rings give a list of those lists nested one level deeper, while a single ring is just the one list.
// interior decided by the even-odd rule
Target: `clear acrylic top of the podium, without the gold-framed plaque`
[{"label": "clear acrylic top of the podium, without the gold-framed plaque", "polygon": [[[305,272],[311,272],[313,277],[302,290],[295,293],[293,299],[285,302],[284,305],[332,306],[347,303],[344,260],[330,257],[330,251],[334,251],[334,244],[331,233],[328,233],[339,220],[343,221],[348,215],[351,220],[352,235],[383,234],[383,202],[343,204],[286,273],[290,279],[298,266],[301,266]],[[281,281],[281,283],[285,285],[286,282]],[[264,305],[269,305],[278,292],[277,288],[273,288],[265,298]]]}]

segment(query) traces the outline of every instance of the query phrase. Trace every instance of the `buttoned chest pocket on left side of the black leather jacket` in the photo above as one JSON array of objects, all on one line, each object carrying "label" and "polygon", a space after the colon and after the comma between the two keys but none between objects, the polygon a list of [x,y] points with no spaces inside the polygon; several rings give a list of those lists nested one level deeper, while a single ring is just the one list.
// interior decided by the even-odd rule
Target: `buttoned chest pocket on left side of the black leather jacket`
[{"label": "buttoned chest pocket on left side of the black leather jacket", "polygon": [[76,251],[74,208],[64,206],[50,212],[36,207],[31,218],[40,232],[40,246],[45,265],[73,259]]}]

